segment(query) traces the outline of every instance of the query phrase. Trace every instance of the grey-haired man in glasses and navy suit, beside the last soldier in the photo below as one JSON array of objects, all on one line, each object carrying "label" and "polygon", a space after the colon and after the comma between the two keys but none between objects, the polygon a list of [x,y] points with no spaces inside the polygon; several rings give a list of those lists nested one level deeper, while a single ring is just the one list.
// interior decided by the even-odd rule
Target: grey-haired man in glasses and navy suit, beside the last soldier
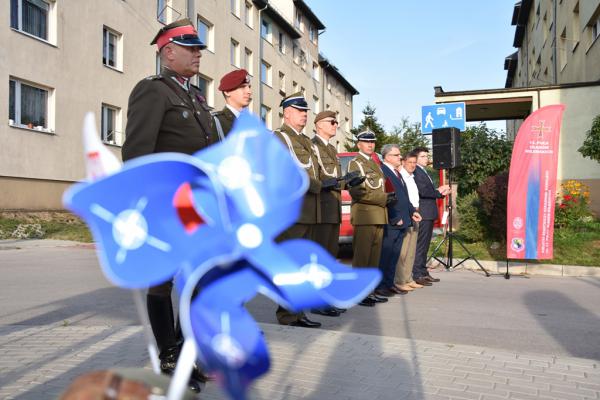
[{"label": "grey-haired man in glasses and navy suit, beside the last soldier", "polygon": [[398,171],[402,164],[400,147],[397,144],[386,144],[381,149],[381,156],[383,157],[381,170],[386,177],[386,192],[394,193],[395,200],[387,204],[388,224],[384,227],[379,259],[379,269],[383,277],[375,294],[391,297],[394,294],[408,293],[394,285],[396,264],[407,228],[412,225],[413,220],[420,221],[421,216],[410,203],[406,183]]}]

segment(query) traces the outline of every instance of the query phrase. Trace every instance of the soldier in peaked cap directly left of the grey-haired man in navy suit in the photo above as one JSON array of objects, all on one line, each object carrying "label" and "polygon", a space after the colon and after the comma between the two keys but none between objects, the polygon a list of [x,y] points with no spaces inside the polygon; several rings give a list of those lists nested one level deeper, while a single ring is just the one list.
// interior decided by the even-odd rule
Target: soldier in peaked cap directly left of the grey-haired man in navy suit
[{"label": "soldier in peaked cap directly left of the grey-haired man in navy suit", "polygon": [[[375,151],[375,134],[364,131],[356,136],[359,153],[350,160],[348,172],[360,171],[366,180],[359,186],[351,187],[352,197],[350,222],[354,227],[352,237],[352,266],[377,267],[381,254],[383,229],[388,223],[386,204],[392,196],[385,192],[385,176],[379,165],[371,158]],[[386,298],[374,293],[363,299],[361,306],[372,307],[385,303]]]}]

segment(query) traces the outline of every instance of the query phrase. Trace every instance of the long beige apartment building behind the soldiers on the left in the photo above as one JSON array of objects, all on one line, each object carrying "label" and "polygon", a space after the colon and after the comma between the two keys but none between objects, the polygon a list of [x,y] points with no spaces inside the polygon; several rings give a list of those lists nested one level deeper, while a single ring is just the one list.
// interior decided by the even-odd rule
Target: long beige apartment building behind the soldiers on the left
[{"label": "long beige apartment building behind the soldiers on the left", "polygon": [[[325,25],[302,0],[7,0],[0,18],[0,209],[59,209],[62,192],[84,177],[81,126],[96,115],[103,142],[120,157],[127,100],[160,70],[149,43],[163,24],[190,18],[208,45],[195,83],[215,109],[220,77],[252,75],[251,110],[275,129],[279,103],[302,91],[311,111],[341,121],[341,148],[352,127],[357,90],[319,53]],[[6,112],[6,111],[5,111]],[[6,115],[6,114],[5,114]]]}]

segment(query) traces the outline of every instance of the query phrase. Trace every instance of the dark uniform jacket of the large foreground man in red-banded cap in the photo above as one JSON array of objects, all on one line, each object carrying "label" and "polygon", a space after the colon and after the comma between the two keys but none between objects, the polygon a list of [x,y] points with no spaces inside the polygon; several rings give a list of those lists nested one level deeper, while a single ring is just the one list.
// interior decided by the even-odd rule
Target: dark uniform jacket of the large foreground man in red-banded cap
[{"label": "dark uniform jacket of the large foreground man in red-banded cap", "polygon": [[151,153],[193,154],[211,144],[213,120],[200,89],[189,92],[163,68],[140,81],[129,96],[123,160]]}]

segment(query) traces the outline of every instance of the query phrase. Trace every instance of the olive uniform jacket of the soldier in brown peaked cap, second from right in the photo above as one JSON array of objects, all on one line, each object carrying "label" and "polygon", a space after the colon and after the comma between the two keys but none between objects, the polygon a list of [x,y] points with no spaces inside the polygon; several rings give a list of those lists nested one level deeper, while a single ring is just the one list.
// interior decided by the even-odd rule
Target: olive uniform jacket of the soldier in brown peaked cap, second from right
[{"label": "olive uniform jacket of the soldier in brown peaked cap, second from right", "polygon": [[[340,178],[342,166],[337,151],[331,144],[325,144],[320,138],[312,138],[317,160],[319,161],[319,179]],[[340,190],[323,191],[319,195],[321,201],[322,224],[339,224],[342,221],[342,201]]]}]

